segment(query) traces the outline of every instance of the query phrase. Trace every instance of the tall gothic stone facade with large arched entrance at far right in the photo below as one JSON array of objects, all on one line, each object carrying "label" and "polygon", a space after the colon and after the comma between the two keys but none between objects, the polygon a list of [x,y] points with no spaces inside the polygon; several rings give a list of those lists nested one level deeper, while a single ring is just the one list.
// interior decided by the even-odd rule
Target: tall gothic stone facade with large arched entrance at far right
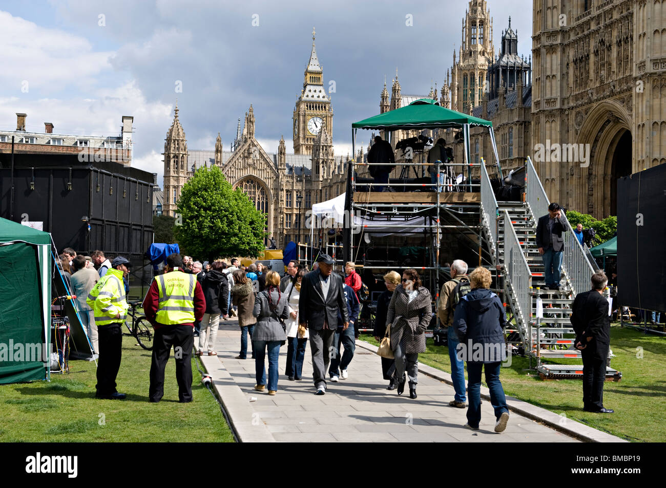
[{"label": "tall gothic stone facade with large arched entrance at far right", "polygon": [[617,215],[615,180],[666,162],[666,0],[533,0],[532,145],[583,144],[539,162],[551,200]]}]

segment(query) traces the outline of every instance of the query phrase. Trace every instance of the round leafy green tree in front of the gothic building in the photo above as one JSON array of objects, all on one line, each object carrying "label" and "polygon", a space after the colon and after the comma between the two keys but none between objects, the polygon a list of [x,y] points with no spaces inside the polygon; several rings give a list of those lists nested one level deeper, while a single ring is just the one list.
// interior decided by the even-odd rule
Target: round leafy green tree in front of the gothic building
[{"label": "round leafy green tree in front of the gothic building", "polygon": [[202,167],[180,191],[174,237],[187,253],[218,257],[258,257],[264,250],[266,216],[240,188],[235,191],[217,166]]}]

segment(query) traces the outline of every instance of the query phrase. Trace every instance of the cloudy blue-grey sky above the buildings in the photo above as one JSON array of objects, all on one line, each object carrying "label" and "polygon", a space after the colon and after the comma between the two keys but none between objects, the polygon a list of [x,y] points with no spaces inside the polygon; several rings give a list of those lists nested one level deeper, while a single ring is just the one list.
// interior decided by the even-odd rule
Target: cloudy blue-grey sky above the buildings
[{"label": "cloudy blue-grey sky above the buildings", "polygon": [[[489,0],[494,44],[508,25],[529,55],[531,1]],[[0,128],[53,122],[59,134],[119,134],[134,116],[133,166],[162,183],[166,131],[178,98],[188,149],[224,150],[250,106],[256,137],[292,152],[292,112],[316,27],[325,86],[333,80],[336,154],[350,126],[379,112],[384,76],[404,94],[442,86],[460,48],[468,1],[0,1]],[[409,17],[411,16],[411,17]],[[412,25],[408,19],[412,19]],[[182,92],[176,92],[182,86]],[[360,134],[368,143],[369,134]]]}]

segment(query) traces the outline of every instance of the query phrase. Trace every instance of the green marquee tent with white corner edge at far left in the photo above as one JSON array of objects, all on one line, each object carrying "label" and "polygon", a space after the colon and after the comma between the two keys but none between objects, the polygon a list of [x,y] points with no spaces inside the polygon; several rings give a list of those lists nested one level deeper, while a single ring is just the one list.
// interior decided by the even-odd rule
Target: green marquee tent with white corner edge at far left
[{"label": "green marquee tent with white corner edge at far left", "polygon": [[0,384],[50,372],[51,235],[0,218]]}]

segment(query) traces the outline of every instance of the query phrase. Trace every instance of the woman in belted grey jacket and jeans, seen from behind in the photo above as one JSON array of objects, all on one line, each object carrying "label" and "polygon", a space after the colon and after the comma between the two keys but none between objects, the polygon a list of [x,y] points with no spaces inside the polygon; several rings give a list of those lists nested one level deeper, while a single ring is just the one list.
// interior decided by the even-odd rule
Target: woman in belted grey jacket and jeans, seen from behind
[{"label": "woman in belted grey jacket and jeans, seen from behind", "polygon": [[287,340],[280,322],[289,316],[286,296],[280,293],[280,275],[268,271],[266,289],[256,295],[252,314],[257,318],[252,336],[254,364],[256,365],[256,385],[254,389],[263,392],[266,388],[266,368],[264,367],[268,349],[268,394],[278,390],[278,357],[280,346]]}]

